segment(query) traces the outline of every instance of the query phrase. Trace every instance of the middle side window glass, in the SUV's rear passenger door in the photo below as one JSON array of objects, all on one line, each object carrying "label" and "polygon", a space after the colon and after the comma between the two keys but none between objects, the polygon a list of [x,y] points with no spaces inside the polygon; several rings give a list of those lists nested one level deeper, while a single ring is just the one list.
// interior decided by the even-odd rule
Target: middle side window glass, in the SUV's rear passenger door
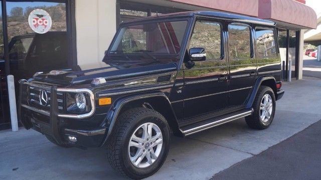
[{"label": "middle side window glass, in the SUV's rear passenger door", "polygon": [[229,25],[229,53],[231,58],[251,57],[250,28],[246,25]]}]

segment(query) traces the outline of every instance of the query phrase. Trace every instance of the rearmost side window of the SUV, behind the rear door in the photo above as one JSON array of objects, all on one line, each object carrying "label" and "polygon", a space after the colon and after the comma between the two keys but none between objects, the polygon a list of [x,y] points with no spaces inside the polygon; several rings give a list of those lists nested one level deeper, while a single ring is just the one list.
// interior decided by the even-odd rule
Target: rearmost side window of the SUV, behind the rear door
[{"label": "rearmost side window of the SUV, behind the rear door", "polygon": [[256,50],[258,56],[262,57],[274,57],[276,56],[276,48],[274,41],[274,33],[272,30],[256,29]]}]

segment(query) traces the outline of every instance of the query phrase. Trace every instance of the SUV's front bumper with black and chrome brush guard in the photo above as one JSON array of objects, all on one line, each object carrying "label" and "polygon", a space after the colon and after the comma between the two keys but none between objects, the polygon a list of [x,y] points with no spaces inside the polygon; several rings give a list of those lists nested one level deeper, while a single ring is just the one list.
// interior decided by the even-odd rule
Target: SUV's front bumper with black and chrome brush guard
[{"label": "SUV's front bumper with black and chrome brush guard", "polygon": [[[24,90],[26,86],[30,85],[26,81],[20,81],[20,96],[19,96],[19,109],[18,116],[26,129],[33,128],[46,136],[51,136],[58,144],[69,144],[78,147],[98,147],[102,144],[105,138],[106,128],[90,127],[88,129],[71,129],[68,127],[67,121],[73,119],[72,122],[80,118],[92,116],[95,112],[94,98],[92,97],[92,110],[87,114],[74,115],[59,113],[57,103],[57,92],[71,92],[71,89],[57,88],[52,86],[50,88],[50,111],[41,110],[27,103],[23,102]],[[34,86],[34,84],[32,85]],[[49,89],[48,89],[49,91]],[[72,92],[77,92],[72,91]],[[86,92],[89,92],[86,90]],[[90,95],[93,96],[92,92]],[[75,140],[70,140],[68,136],[76,137]]]}]

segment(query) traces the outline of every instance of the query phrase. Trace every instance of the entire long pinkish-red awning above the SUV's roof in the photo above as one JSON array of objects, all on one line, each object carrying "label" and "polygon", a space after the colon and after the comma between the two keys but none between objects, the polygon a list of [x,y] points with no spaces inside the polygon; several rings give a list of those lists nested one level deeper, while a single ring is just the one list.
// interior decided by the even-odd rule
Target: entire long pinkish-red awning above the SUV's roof
[{"label": "entire long pinkish-red awning above the SUV's roof", "polygon": [[[278,26],[297,29],[315,29],[316,14],[305,6],[304,0],[169,0],[213,9],[237,13],[261,19],[272,20]],[[199,9],[198,9],[199,10]]]}]

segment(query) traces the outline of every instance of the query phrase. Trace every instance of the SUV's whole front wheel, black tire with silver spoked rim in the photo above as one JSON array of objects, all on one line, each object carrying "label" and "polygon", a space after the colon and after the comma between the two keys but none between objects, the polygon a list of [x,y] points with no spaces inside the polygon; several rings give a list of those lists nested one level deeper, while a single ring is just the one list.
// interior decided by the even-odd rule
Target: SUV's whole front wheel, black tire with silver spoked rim
[{"label": "SUV's whole front wheel, black tire with silver spoked rim", "polygon": [[121,174],[141,179],[163,165],[169,142],[169,125],[161,114],[152,109],[133,108],[117,118],[107,142],[107,157]]}]

